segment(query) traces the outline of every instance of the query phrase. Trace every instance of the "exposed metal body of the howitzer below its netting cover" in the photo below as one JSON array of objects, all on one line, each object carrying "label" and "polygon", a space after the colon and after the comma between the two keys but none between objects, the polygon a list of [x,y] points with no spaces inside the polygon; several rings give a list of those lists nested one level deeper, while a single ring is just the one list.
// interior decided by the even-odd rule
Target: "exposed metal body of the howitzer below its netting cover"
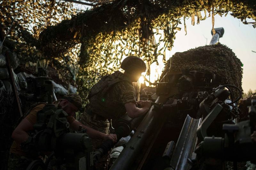
[{"label": "exposed metal body of the howitzer below its netting cover", "polygon": [[[196,130],[203,117],[207,115],[206,105],[225,101],[231,91],[218,87],[220,77],[216,75],[188,70],[175,73],[168,72],[164,77],[173,82],[157,85],[156,94],[149,99],[155,101],[154,106],[144,117],[111,169],[164,169],[167,167],[186,169],[190,167],[187,158],[190,158],[197,144]],[[213,89],[215,89],[214,92]],[[212,135],[216,132],[220,134],[221,124],[218,123],[227,120],[232,123],[233,118],[236,117],[236,105],[233,106],[230,100],[226,102],[231,103],[233,111],[220,114],[217,122],[209,124],[210,131],[207,134]],[[225,104],[226,107],[230,109],[228,104]],[[170,135],[173,129],[180,128],[173,126],[172,120],[184,121],[179,138]],[[164,138],[161,135],[164,135]],[[177,142],[176,145],[174,140]],[[165,143],[164,147],[163,143]]]}]

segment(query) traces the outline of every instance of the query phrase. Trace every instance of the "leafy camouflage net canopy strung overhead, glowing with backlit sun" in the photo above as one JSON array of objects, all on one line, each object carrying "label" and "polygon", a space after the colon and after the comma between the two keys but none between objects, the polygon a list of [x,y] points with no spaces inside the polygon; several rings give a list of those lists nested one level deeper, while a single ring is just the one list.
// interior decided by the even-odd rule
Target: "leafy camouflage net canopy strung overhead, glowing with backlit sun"
[{"label": "leafy camouflage net canopy strung overhead, glowing with backlit sun", "polygon": [[65,79],[76,78],[83,98],[102,75],[117,70],[125,56],[140,56],[148,68],[159,56],[166,62],[165,52],[171,50],[180,24],[187,31],[188,18],[194,25],[211,17],[213,27],[214,15],[230,12],[244,24],[256,27],[255,22],[246,21],[256,19],[256,5],[250,0],[99,2],[81,12],[72,3],[60,0],[6,0],[0,2],[0,16],[6,33],[21,8],[7,37],[20,61],[40,63],[45,59],[53,63]]}]

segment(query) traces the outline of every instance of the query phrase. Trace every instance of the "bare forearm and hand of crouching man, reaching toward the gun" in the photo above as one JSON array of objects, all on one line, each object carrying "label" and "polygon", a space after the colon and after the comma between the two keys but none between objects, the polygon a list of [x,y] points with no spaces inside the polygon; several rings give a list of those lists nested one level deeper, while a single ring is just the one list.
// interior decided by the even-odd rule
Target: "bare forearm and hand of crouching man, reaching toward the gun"
[{"label": "bare forearm and hand of crouching man, reaching toward the gun", "polygon": [[78,122],[76,120],[74,122],[70,123],[70,128],[74,129],[74,130],[78,130],[79,125],[81,125],[84,129],[86,129],[86,133],[91,138],[98,138],[98,139],[102,139],[102,140],[111,139],[113,142],[116,142],[116,140],[117,140],[116,134],[106,135],[106,134],[101,133],[95,129],[88,127],[88,126],[85,126],[84,124],[82,124],[81,122]]}]

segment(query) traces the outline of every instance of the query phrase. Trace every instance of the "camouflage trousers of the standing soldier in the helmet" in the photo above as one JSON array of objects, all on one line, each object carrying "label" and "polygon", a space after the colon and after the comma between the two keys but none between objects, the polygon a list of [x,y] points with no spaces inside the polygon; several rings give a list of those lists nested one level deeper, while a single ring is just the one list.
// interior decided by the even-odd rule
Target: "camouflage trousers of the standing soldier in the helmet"
[{"label": "camouflage trousers of the standing soldier in the helmet", "polygon": [[[81,117],[81,123],[90,128],[100,131],[101,133],[109,134],[109,122],[108,120],[96,120],[93,115],[88,115],[86,112]],[[101,139],[92,139],[93,149],[99,146],[103,140]],[[109,161],[110,152],[102,157],[99,162],[94,165],[97,170],[107,170],[108,169],[108,161]]]}]

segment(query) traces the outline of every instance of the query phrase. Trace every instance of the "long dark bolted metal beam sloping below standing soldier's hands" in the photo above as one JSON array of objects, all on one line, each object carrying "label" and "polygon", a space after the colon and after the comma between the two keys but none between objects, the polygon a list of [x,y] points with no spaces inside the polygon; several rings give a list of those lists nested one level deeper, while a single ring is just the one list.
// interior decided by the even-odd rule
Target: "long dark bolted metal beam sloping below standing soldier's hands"
[{"label": "long dark bolted metal beam sloping below standing soldier's hands", "polygon": [[[156,103],[165,103],[166,100],[167,98],[165,96],[159,96],[156,99]],[[156,110],[153,110],[151,107],[133,137],[126,144],[126,147],[120,153],[110,169],[138,169],[140,162],[136,161],[136,159],[138,159],[139,155],[141,156],[143,154],[143,149],[150,149],[149,147],[146,147],[147,142],[157,136],[157,132],[159,132],[159,128],[161,128],[159,123],[164,122],[162,121],[162,118],[166,120],[164,114],[157,113]]]}]

